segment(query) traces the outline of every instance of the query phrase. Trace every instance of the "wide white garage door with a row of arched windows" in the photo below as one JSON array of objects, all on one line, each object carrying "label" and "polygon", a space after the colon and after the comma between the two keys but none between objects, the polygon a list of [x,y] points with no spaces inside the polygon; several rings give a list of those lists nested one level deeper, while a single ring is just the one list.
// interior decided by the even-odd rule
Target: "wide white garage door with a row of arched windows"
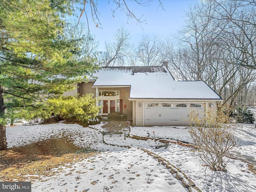
[{"label": "wide white garage door with a row of arched windows", "polygon": [[144,102],[145,126],[183,126],[189,124],[188,114],[198,110],[204,115],[203,103]]}]

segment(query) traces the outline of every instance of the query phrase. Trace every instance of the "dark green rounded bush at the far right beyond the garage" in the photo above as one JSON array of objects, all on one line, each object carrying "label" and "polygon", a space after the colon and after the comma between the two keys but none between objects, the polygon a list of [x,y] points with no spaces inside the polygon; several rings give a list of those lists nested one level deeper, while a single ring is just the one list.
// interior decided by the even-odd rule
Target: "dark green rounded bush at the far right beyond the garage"
[{"label": "dark green rounded bush at the far right beyond the garage", "polygon": [[237,123],[254,123],[255,121],[252,111],[246,107],[236,107],[235,112],[231,116]]}]

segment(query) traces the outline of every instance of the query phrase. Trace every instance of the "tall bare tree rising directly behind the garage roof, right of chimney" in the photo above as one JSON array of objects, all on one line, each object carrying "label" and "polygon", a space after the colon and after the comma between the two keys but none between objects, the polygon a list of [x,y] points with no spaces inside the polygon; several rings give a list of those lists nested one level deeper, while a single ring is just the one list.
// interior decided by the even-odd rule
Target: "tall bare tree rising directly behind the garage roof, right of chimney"
[{"label": "tall bare tree rising directly behind the garage roof, right of chimney", "polygon": [[212,55],[212,47],[221,31],[216,30],[216,23],[214,22],[214,10],[212,3],[195,4],[190,7],[186,14],[186,26],[181,31],[181,38],[179,38],[185,45],[189,57],[188,65],[194,70],[196,80],[203,80],[202,74],[204,70],[212,64],[209,60],[209,54]]}]

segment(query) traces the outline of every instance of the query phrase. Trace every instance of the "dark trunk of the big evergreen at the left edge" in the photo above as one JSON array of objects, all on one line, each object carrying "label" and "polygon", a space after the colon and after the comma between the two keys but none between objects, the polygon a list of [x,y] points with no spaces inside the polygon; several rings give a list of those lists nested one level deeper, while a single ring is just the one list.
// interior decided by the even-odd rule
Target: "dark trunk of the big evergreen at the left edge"
[{"label": "dark trunk of the big evergreen at the left edge", "polygon": [[[4,109],[4,89],[0,84],[0,118],[4,118]],[[5,150],[7,148],[5,128],[5,123],[2,121],[0,123],[0,150]]]}]

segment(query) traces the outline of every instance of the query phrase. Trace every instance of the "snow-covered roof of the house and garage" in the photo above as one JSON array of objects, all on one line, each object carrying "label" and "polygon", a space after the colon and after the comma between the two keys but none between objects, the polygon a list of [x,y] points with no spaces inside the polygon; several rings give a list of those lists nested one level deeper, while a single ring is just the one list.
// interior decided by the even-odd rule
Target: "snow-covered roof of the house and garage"
[{"label": "snow-covered roof of the house and garage", "polygon": [[103,67],[93,86],[130,86],[130,99],[222,99],[203,81],[175,81],[166,66]]}]

